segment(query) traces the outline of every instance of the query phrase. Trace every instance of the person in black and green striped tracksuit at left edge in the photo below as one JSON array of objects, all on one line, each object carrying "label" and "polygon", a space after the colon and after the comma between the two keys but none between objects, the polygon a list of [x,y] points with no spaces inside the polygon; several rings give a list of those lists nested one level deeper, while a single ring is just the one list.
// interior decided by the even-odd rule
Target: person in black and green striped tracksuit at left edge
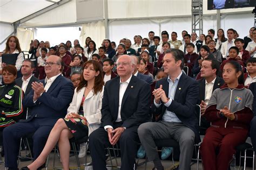
[{"label": "person in black and green striped tracksuit at left edge", "polygon": [[3,130],[7,126],[16,123],[22,117],[24,94],[20,87],[15,86],[15,79],[17,77],[16,67],[6,65],[2,70],[5,85],[0,87],[0,146],[3,146]]}]

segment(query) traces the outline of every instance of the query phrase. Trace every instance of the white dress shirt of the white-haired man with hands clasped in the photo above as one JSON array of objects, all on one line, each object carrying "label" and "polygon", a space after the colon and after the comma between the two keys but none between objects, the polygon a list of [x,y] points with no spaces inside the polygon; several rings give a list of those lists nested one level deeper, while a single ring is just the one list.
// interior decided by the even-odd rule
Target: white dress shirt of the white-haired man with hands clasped
[{"label": "white dress shirt of the white-haired man with hands clasped", "polygon": [[[121,78],[120,78],[120,83],[119,83],[119,103],[118,103],[118,115],[117,115],[117,119],[116,119],[116,122],[122,122],[122,118],[121,118],[121,106],[122,106],[122,100],[123,100],[123,97],[124,97],[124,93],[128,87],[128,84],[130,83],[132,79],[132,75],[130,76],[129,79],[127,79],[125,82],[122,82],[121,81]],[[112,128],[112,126],[110,125],[106,125],[104,126],[104,129],[107,130],[107,128]],[[126,129],[124,127],[124,129]]]}]

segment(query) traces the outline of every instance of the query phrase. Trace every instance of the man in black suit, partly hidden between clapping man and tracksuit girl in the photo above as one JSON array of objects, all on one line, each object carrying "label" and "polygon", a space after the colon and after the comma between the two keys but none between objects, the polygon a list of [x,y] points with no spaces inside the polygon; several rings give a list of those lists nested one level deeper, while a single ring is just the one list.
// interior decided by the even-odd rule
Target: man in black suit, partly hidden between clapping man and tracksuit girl
[{"label": "man in black suit, partly hidden between clapping man and tracksuit girl", "polygon": [[[215,59],[206,58],[202,62],[200,70],[202,79],[198,80],[201,116],[205,114],[206,106],[210,101],[213,91],[224,84],[224,80],[218,76],[219,69],[220,64]],[[206,121],[205,117],[201,117],[200,134],[205,134],[206,129],[209,127],[210,122]]]}]

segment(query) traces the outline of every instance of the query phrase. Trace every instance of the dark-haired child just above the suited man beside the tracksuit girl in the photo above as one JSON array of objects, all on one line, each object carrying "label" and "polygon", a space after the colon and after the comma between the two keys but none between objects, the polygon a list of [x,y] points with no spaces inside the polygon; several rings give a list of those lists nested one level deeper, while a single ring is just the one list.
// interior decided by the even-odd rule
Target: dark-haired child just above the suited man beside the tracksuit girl
[{"label": "dark-haired child just above the suited man beside the tracksuit girl", "polygon": [[192,69],[192,75],[197,76],[197,74],[200,72],[203,60],[205,58],[207,58],[209,53],[210,53],[210,49],[208,46],[206,46],[206,45],[201,46],[200,51],[199,51],[199,57],[198,57],[197,61],[194,62],[194,67]]}]

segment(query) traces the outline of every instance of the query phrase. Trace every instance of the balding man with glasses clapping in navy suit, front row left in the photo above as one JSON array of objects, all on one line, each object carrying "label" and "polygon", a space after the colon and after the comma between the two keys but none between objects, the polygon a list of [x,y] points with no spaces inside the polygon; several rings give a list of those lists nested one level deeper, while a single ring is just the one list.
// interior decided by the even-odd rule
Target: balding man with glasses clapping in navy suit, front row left
[{"label": "balding man with glasses clapping in navy suit, front row left", "polygon": [[33,134],[34,159],[42,152],[49,133],[58,118],[65,117],[73,97],[73,84],[61,75],[62,59],[51,55],[45,62],[46,78],[32,83],[32,90],[24,97],[24,107],[31,107],[31,115],[23,122],[3,131],[5,167],[17,170],[17,155],[21,137]]}]

